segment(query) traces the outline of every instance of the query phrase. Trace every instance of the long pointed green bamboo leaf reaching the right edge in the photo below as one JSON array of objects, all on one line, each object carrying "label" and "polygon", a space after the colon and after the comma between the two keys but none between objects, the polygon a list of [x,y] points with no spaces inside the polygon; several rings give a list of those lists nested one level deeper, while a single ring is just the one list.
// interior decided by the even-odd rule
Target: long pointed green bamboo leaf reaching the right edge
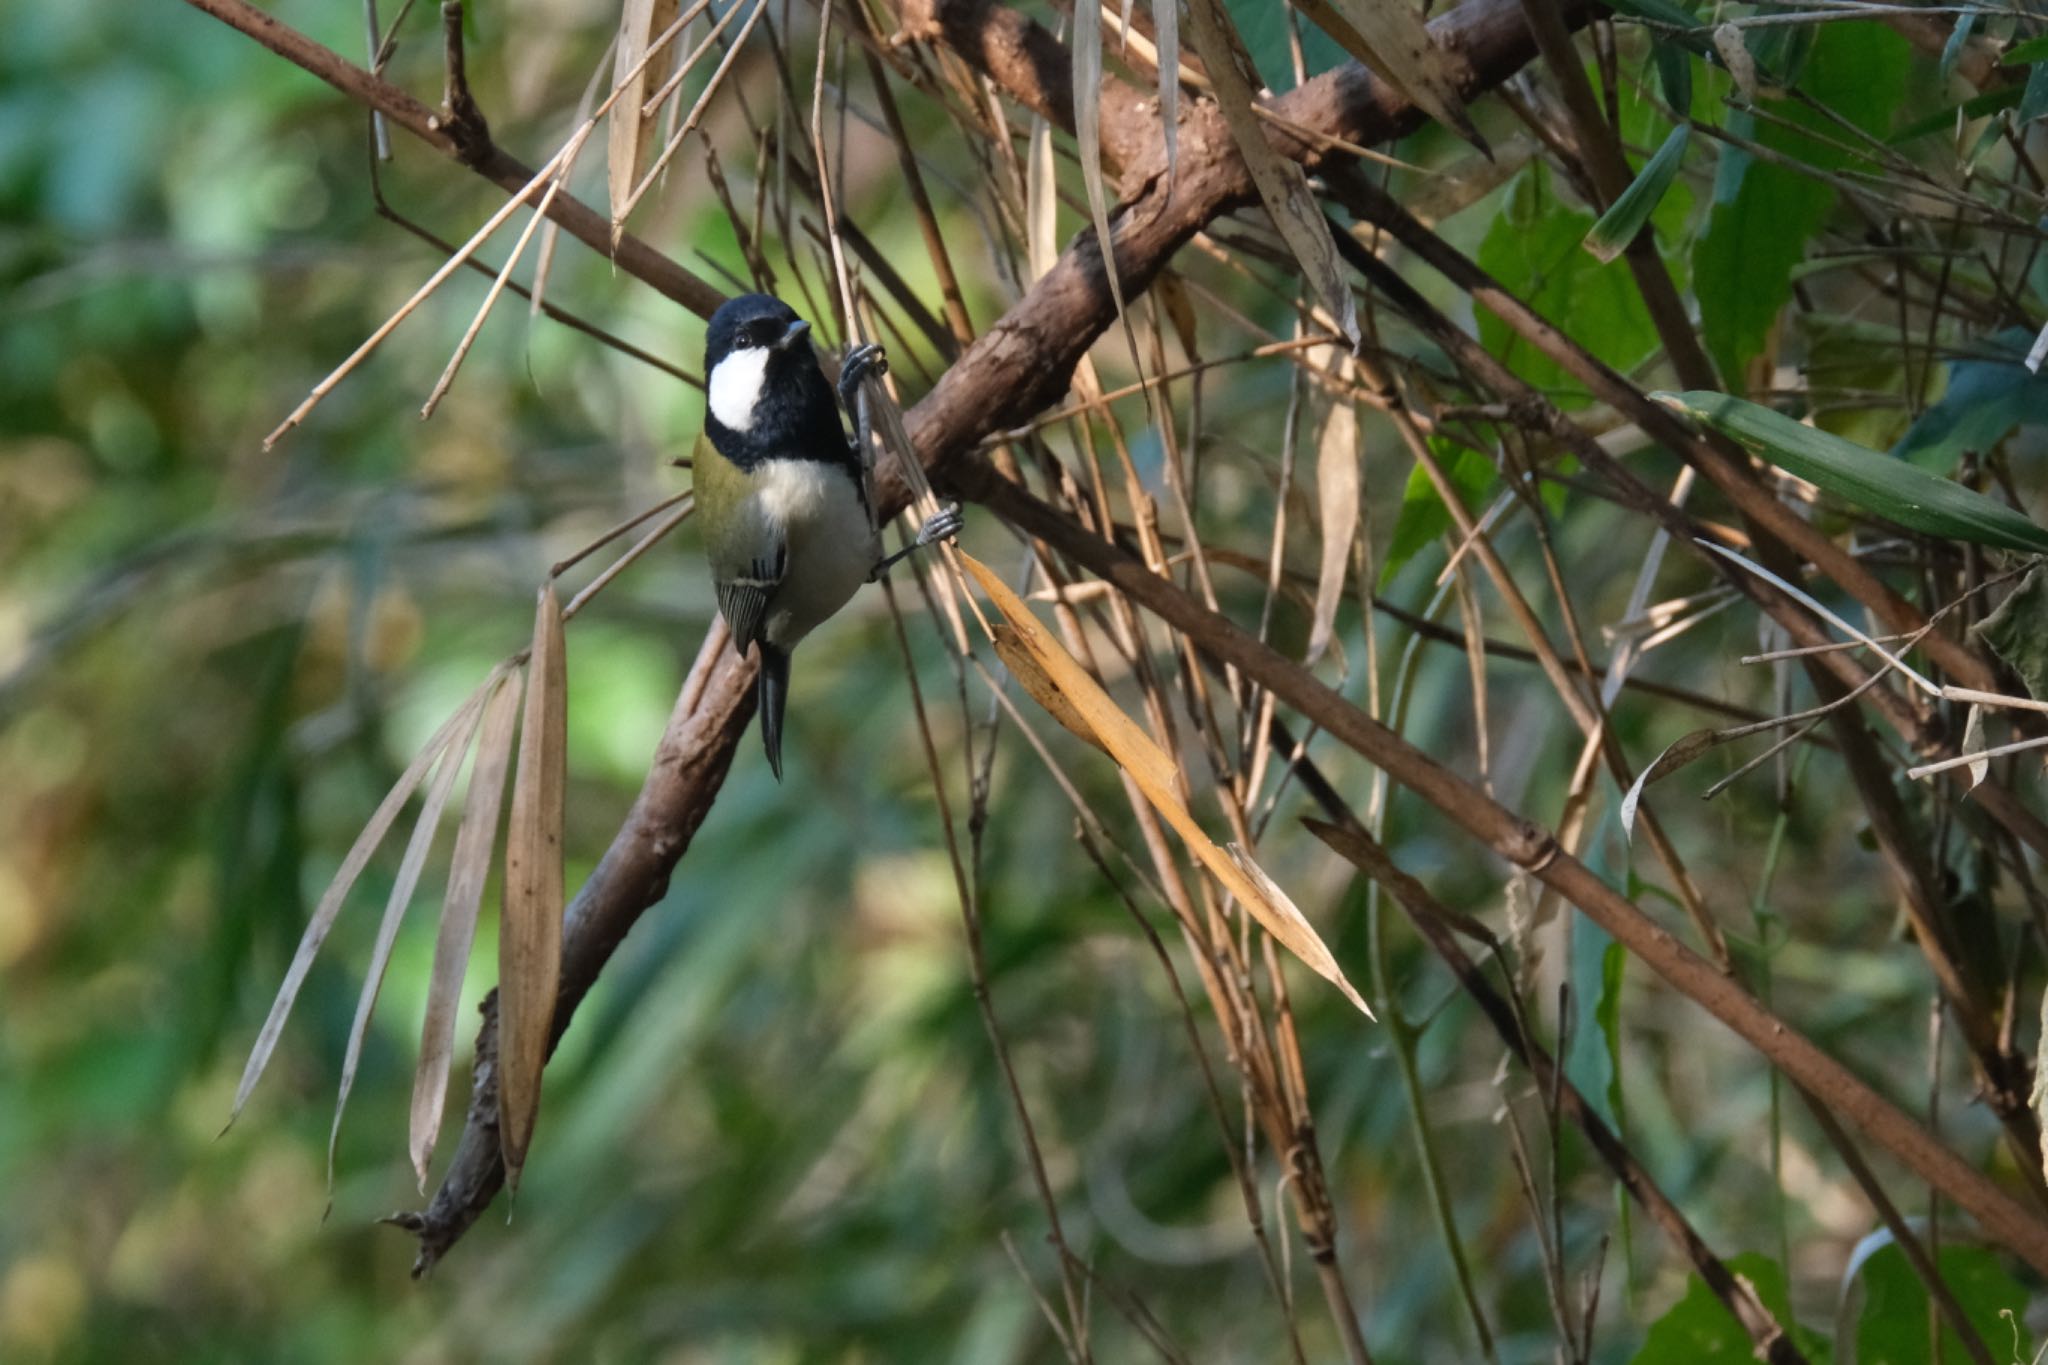
[{"label": "long pointed green bamboo leaf reaching the right edge", "polygon": [[1657,393],[1657,401],[1835,497],[1909,530],[2032,555],[2048,553],[2048,530],[2023,514],[1917,465],[1794,422],[1726,393]]}]

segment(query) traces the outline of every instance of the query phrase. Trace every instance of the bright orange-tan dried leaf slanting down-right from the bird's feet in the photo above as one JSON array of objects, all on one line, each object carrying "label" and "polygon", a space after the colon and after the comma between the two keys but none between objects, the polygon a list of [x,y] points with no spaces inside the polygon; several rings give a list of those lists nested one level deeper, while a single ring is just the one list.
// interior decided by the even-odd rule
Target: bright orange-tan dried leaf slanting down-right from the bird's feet
[{"label": "bright orange-tan dried leaf slanting down-right from the bird's feet", "polygon": [[1233,894],[1245,911],[1260,921],[1260,925],[1282,948],[1300,958],[1311,970],[1329,980],[1337,990],[1343,993],[1352,1005],[1356,1005],[1370,1019],[1372,1009],[1366,1005],[1364,997],[1352,988],[1352,982],[1343,976],[1343,968],[1331,956],[1329,948],[1323,943],[1315,925],[1300,913],[1300,909],[1266,876],[1266,872],[1241,849],[1233,847],[1229,851],[1217,847],[1217,843],[1202,831],[1188,806],[1182,804],[1180,794],[1174,790],[1174,763],[1167,759],[1165,751],[1153,743],[1151,735],[1139,729],[1139,724],[1124,714],[1124,710],[1110,700],[1110,694],[1102,690],[1094,677],[1065,651],[1065,647],[1055,641],[1038,618],[1030,614],[1030,608],[1001,581],[987,565],[977,561],[965,551],[958,553],[961,565],[981,583],[981,589],[995,604],[995,610],[1004,614],[1004,620],[1016,630],[1016,645],[1030,651],[1036,659],[1038,671],[1044,673],[1047,681],[1057,688],[1067,704],[1079,714],[1081,722],[1102,741],[1116,765],[1130,774],[1130,780],[1139,784],[1145,800],[1165,817],[1167,825],[1182,837],[1188,851],[1208,870],[1217,882]]}]

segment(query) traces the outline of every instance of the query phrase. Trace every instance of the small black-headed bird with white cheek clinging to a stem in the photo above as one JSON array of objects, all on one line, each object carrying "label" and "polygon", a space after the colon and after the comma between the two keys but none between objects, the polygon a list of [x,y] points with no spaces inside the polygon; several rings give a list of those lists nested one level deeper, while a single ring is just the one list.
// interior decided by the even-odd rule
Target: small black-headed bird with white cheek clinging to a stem
[{"label": "small black-headed bird with white cheek clinging to a stem", "polygon": [[[961,528],[948,508],[909,548],[883,557],[866,450],[846,440],[809,334],[811,323],[772,295],[739,295],[711,315],[705,436],[692,460],[719,614],[735,651],[760,651],[756,698],[776,780],[791,651],[862,583]],[[856,346],[840,368],[856,426],[860,381],[885,364],[881,346]]]}]

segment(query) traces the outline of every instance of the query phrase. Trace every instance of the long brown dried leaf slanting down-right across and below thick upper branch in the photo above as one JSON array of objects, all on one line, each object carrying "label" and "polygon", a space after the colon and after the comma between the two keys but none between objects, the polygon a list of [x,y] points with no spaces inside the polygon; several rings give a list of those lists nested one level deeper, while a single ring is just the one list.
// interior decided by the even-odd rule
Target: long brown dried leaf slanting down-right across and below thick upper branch
[{"label": "long brown dried leaf slanting down-right across and below thick upper branch", "polygon": [[[1208,63],[1208,80],[1217,88],[1217,108],[1231,129],[1237,153],[1245,158],[1251,184],[1260,192],[1260,203],[1272,215],[1274,227],[1286,241],[1294,260],[1315,287],[1323,307],[1337,319],[1337,327],[1356,350],[1358,301],[1337,258],[1337,244],[1329,237],[1329,221],[1315,203],[1309,176],[1300,166],[1272,149],[1266,129],[1251,113],[1255,98],[1251,57],[1231,27],[1221,0],[1188,0],[1188,18],[1194,25],[1194,47]],[[1075,86],[1079,90],[1079,86]]]}]

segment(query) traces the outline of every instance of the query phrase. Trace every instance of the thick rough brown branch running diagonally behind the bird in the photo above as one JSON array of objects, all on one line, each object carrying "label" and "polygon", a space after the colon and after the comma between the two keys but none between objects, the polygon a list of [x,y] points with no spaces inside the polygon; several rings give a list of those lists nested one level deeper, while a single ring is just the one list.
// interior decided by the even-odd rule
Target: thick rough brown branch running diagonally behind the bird
[{"label": "thick rough brown branch running diagonally behind the bird", "polygon": [[[211,8],[240,0],[190,2]],[[1071,82],[1071,76],[1061,76],[1065,70],[1063,51],[1057,43],[1051,49],[1044,47],[1051,35],[1040,41],[1030,33],[1034,25],[1028,20],[1020,29],[1014,14],[981,0],[938,0],[936,8],[936,29],[930,31],[948,43],[963,43],[961,51],[969,61],[979,61],[983,53],[1001,53],[1010,51],[1012,45],[1022,45],[1022,49],[1038,53],[1030,70],[1040,92],[1071,90],[1071,86],[1061,84],[1063,80]],[[930,16],[932,10],[926,14]],[[979,14],[983,23],[1001,23],[1010,37],[989,45],[971,41],[973,25],[963,14]],[[1583,14],[1583,10],[1575,10],[1575,14]],[[1528,29],[1516,0],[1477,0],[1436,20],[1434,31],[1440,43],[1466,57],[1473,74],[1468,94],[1479,94],[1505,80],[1532,55]],[[1053,61],[1055,53],[1059,53],[1057,61]],[[305,63],[301,61],[301,65]],[[987,74],[1001,80],[995,70]],[[1040,98],[1051,96],[1040,94]],[[1384,141],[1421,123],[1411,106],[1358,65],[1339,68],[1300,86],[1276,100],[1276,108],[1294,125],[1354,143]],[[1053,100],[1044,113],[1063,125],[1071,123],[1071,96],[1065,104]],[[1104,119],[1104,125],[1108,123],[1110,119]],[[1251,199],[1251,180],[1235,153],[1229,131],[1212,108],[1200,106],[1184,119],[1171,186],[1163,174],[1165,151],[1159,145],[1157,119],[1147,117],[1143,127],[1153,141],[1143,153],[1130,158],[1133,166],[1124,172],[1130,199],[1118,213],[1114,235],[1118,272],[1130,291],[1143,289],[1171,254],[1210,219]],[[1305,160],[1321,156],[1315,145],[1298,137],[1276,133],[1274,139],[1276,145]],[[621,268],[637,274],[625,258],[621,258]],[[983,334],[940,377],[932,393],[907,413],[918,456],[936,479],[944,481],[946,473],[969,456],[981,438],[1014,428],[1057,401],[1067,391],[1073,366],[1114,319],[1116,309],[1104,280],[1096,237],[1083,233],[1032,287],[1030,295]],[[901,510],[905,505],[901,485],[885,485],[881,501],[885,512]],[[567,1027],[575,1005],[612,948],[659,898],[668,874],[711,808],[731,763],[733,747],[752,716],[752,661],[735,659],[723,645],[717,651],[707,647],[707,653],[698,657],[692,686],[684,690],[684,700],[676,706],[676,716],[662,739],[662,751],[633,806],[633,817],[569,907],[569,923],[563,929],[557,1033]],[[487,1044],[489,1033],[479,1038],[479,1054]],[[483,1068],[479,1068],[481,1072]],[[489,1205],[504,1179],[504,1171],[492,1156],[496,1134],[483,1132],[475,1113],[473,1105],[457,1160],[442,1179],[434,1201],[424,1214],[403,1220],[420,1236],[416,1273],[428,1271],[463,1236]]]}]

